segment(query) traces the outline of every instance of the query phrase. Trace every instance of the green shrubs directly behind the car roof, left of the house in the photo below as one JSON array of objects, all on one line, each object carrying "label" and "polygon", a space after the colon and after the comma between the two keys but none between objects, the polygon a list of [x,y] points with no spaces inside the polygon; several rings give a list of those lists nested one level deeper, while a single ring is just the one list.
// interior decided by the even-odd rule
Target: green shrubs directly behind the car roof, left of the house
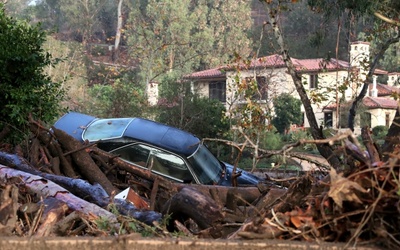
[{"label": "green shrubs directly behind the car roof, left of the house", "polygon": [[192,93],[189,83],[179,83],[173,76],[165,77],[159,86],[160,122],[200,138],[221,138],[229,130],[225,107],[218,100]]}]

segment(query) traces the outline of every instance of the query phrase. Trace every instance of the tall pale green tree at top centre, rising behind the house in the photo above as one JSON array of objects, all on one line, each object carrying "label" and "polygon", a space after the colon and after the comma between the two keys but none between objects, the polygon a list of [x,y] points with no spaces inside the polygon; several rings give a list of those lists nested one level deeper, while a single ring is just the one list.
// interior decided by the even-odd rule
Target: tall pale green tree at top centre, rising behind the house
[{"label": "tall pale green tree at top centre, rising behind the house", "polygon": [[182,76],[226,63],[234,53],[249,54],[247,1],[149,0],[133,4],[127,23],[128,45],[146,84],[171,71]]}]

